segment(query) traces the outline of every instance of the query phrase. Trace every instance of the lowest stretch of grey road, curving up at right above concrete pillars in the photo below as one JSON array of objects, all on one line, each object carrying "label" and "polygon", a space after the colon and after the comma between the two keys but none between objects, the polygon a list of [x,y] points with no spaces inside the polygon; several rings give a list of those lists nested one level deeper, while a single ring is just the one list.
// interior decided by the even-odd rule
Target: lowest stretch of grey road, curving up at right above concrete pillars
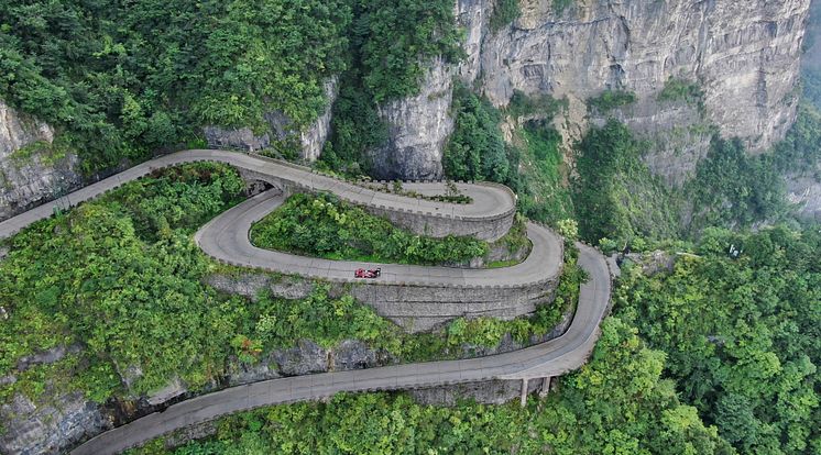
[{"label": "lowest stretch of grey road, curving up at right above concrete pillars", "polygon": [[578,244],[579,265],[590,279],[581,286],[579,304],[560,337],[525,349],[464,360],[429,362],[390,367],[295,376],[231,387],[183,401],[102,433],[72,452],[116,454],[175,430],[221,415],[273,404],[330,397],[338,392],[413,389],[491,379],[559,376],[582,366],[599,337],[610,308],[611,275],[594,248]]}]

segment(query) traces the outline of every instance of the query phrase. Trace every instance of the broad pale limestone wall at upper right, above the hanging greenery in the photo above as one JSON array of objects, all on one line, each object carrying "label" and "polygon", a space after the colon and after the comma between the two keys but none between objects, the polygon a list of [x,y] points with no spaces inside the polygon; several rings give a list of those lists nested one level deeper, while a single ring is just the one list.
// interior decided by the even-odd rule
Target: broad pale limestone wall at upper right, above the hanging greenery
[{"label": "broad pale limestone wall at upper right, above the hanging greenery", "polygon": [[699,81],[709,120],[756,151],[795,120],[809,0],[579,0],[561,14],[548,0],[525,3],[482,47],[483,89],[496,104],[513,89],[647,98],[677,77]]}]

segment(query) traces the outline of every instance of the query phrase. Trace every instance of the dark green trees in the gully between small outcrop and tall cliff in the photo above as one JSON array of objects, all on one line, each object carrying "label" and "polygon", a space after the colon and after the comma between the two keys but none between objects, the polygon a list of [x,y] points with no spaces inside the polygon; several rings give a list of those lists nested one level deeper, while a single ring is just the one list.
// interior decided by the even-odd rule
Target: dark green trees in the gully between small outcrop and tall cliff
[{"label": "dark green trees in the gully between small outcrop and tall cliff", "polygon": [[351,174],[368,171],[366,151],[387,140],[381,102],[418,93],[429,62],[461,58],[461,34],[449,0],[353,2],[350,62],[333,106],[332,135],[322,163]]}]

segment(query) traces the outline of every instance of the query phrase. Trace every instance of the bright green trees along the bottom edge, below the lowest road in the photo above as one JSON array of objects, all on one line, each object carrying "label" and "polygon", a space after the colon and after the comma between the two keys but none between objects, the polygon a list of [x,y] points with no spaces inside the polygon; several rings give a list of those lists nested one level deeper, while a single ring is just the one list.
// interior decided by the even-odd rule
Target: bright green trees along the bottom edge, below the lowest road
[{"label": "bright green trees along the bottom edge, below the lowest road", "polygon": [[[661,379],[665,356],[617,319],[603,325],[591,363],[547,399],[452,408],[403,393],[339,395],[221,419],[216,436],[173,453],[732,454],[696,409]],[[157,441],[133,454],[165,453]]]}]

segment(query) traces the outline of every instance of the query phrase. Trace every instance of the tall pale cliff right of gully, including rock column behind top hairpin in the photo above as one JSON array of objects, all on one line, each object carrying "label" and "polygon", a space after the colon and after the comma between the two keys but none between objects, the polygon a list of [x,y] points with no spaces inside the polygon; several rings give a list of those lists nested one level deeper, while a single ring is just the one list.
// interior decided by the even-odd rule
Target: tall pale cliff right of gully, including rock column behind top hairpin
[{"label": "tall pale cliff right of gully, including rock column behind top hairpin", "polygon": [[[622,120],[658,145],[648,164],[669,181],[683,180],[705,154],[702,132],[681,146],[680,129],[714,123],[722,134],[740,136],[754,153],[782,138],[795,121],[801,42],[810,0],[573,0],[555,11],[552,0],[522,0],[521,18],[491,33],[493,0],[458,0],[457,18],[467,31],[467,58],[451,74],[505,106],[514,90],[569,100],[566,138],[578,138],[591,120],[584,101],[607,89],[634,91],[641,108]],[[435,71],[442,73],[435,65]],[[653,106],[671,78],[698,82],[704,91],[705,119],[680,106]],[[430,84],[434,81],[435,84]],[[426,81],[427,92],[445,89]],[[437,169],[441,141],[418,136],[430,119],[447,124],[448,107],[427,102],[426,115],[402,115],[408,103],[383,109],[412,147],[388,147],[385,160],[413,171],[419,164]],[[437,110],[438,109],[438,110]],[[595,119],[593,119],[595,120]],[[671,124],[672,123],[672,124]],[[679,130],[672,131],[672,126]],[[669,137],[674,146],[661,146]],[[420,141],[426,141],[423,145]],[[675,157],[672,163],[668,159]],[[402,175],[402,177],[413,177]]]}]

